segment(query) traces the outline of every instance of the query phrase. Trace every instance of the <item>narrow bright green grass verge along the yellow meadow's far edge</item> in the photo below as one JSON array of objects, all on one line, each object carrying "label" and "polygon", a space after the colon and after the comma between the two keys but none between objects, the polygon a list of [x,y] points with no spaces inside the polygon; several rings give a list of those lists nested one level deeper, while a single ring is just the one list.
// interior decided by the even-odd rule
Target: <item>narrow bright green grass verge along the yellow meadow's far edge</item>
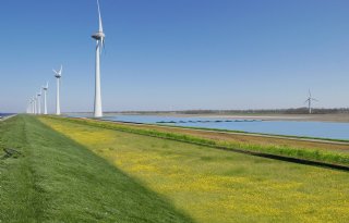
[{"label": "narrow bright green grass verge along the yellow meadow's far edge", "polygon": [[159,138],[173,139],[179,141],[193,143],[203,146],[218,147],[231,150],[262,152],[265,154],[276,154],[289,158],[297,158],[302,160],[318,161],[324,163],[339,164],[349,166],[349,154],[346,152],[338,152],[336,150],[324,150],[324,149],[303,149],[297,147],[290,147],[285,145],[256,145],[249,143],[234,143],[227,140],[215,140],[206,137],[198,137],[190,134],[170,133],[166,131],[141,128],[133,125],[118,124],[111,122],[101,122],[94,120],[82,120],[82,119],[68,119],[68,117],[50,117],[61,119],[61,121],[73,122],[80,124],[86,124],[91,126],[104,127],[108,129],[122,131],[127,133],[134,133],[147,136],[154,136]]}]

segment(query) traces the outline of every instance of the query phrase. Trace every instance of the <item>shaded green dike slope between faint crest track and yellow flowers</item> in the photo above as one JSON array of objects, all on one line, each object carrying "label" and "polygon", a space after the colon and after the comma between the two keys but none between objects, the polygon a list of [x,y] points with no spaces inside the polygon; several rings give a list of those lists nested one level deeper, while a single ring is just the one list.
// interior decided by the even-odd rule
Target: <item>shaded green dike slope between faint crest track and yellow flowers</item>
[{"label": "shaded green dike slope between faint crest track and yellow flowers", "polygon": [[[35,194],[28,198],[35,199],[27,202],[32,207],[17,210],[40,209],[33,212],[39,215],[28,219],[57,222],[193,222],[170,200],[71,138],[33,116],[20,115],[15,119],[17,122],[22,120],[26,126],[27,141],[24,143],[31,150],[27,152],[26,168],[31,170],[33,181],[28,186]],[[16,218],[15,211],[8,214],[3,220]]]}]

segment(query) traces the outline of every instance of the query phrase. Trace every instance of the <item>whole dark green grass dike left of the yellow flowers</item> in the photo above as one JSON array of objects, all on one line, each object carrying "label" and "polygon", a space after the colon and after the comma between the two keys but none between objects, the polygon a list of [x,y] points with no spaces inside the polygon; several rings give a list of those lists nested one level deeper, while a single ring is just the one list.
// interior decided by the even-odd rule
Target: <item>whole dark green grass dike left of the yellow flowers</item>
[{"label": "whole dark green grass dike left of the yellow flowers", "polygon": [[[68,132],[73,129],[68,129]],[[0,123],[0,222],[192,222],[105,159],[35,117]]]}]

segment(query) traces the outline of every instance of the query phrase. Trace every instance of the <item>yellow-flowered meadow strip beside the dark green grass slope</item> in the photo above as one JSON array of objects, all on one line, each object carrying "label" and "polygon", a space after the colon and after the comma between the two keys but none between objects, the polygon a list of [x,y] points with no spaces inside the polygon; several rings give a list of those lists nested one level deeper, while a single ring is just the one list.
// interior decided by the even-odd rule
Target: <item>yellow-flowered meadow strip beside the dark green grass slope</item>
[{"label": "yellow-flowered meadow strip beside the dark green grass slope", "polygon": [[349,221],[348,172],[62,119],[40,120],[166,196],[197,222]]}]

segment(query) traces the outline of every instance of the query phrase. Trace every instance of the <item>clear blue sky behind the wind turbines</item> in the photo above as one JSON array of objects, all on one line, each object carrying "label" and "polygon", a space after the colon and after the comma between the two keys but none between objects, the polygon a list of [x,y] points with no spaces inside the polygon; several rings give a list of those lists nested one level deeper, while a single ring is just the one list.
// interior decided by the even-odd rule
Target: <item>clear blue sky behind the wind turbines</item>
[{"label": "clear blue sky behind the wind turbines", "polygon": [[[100,0],[105,111],[349,107],[347,0]],[[62,111],[92,111],[95,0],[1,1],[0,111],[62,63]]]}]

